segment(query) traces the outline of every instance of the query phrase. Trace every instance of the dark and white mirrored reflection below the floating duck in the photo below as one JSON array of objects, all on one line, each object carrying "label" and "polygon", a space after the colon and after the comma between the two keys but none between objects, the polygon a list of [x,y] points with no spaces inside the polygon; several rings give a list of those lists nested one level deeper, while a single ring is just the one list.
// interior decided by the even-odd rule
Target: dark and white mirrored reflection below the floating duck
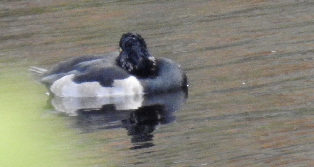
[{"label": "dark and white mirrored reflection below the floating duck", "polygon": [[176,120],[173,113],[188,97],[187,89],[157,94],[128,97],[53,97],[51,104],[59,112],[75,116],[75,126],[83,132],[125,128],[133,147],[154,146],[153,132],[157,125]]}]

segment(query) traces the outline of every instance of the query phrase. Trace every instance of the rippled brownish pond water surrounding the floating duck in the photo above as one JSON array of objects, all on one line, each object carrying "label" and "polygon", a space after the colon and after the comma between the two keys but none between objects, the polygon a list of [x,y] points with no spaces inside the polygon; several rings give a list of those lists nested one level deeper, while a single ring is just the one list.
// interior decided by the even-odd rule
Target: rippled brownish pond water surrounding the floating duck
[{"label": "rippled brownish pond water surrounding the floating duck", "polygon": [[[3,166],[314,165],[311,0],[7,0],[0,22]],[[27,71],[116,51],[126,32],[189,84],[139,145],[130,113],[56,112]]]}]

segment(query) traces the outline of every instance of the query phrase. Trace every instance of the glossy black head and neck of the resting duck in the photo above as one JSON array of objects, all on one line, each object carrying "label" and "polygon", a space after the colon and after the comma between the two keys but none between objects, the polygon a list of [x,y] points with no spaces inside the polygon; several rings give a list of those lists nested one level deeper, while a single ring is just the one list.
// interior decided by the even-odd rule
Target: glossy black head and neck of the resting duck
[{"label": "glossy black head and neck of the resting duck", "polygon": [[117,65],[138,77],[154,77],[156,60],[148,53],[146,43],[139,34],[123,34],[120,39]]}]

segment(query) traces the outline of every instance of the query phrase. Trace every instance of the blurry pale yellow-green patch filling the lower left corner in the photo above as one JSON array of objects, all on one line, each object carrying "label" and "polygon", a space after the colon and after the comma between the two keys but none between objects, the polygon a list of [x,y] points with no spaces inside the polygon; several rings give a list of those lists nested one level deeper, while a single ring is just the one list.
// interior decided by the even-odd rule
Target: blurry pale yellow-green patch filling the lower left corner
[{"label": "blurry pale yellow-green patch filling the lower left corner", "polygon": [[[92,165],[84,159],[91,156],[84,153],[89,144],[80,141],[66,117],[49,112],[45,91],[24,68],[0,67],[1,166]],[[107,164],[107,158],[102,154],[101,163]]]}]

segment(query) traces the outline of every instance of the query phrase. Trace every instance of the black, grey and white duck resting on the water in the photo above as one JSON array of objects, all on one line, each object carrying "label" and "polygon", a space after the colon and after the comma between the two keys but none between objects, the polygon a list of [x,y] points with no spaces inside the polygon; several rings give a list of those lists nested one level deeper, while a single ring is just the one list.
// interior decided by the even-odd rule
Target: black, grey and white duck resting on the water
[{"label": "black, grey and white duck resting on the water", "polygon": [[33,66],[30,71],[58,97],[158,94],[187,88],[180,66],[149,54],[141,35],[123,34],[119,47],[119,52],[75,56],[48,70]]}]

